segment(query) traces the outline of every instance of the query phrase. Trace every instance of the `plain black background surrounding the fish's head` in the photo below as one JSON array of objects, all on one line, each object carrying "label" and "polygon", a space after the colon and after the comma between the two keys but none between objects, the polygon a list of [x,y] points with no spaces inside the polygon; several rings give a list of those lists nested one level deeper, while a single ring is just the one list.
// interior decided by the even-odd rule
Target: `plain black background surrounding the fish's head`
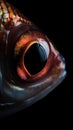
[{"label": "plain black background surrounding the fish's head", "polygon": [[[12,116],[1,119],[7,127],[21,129],[45,126],[61,127],[68,125],[72,103],[72,41],[71,41],[71,4],[63,1],[47,0],[8,0],[26,17],[33,21],[56,45],[66,60],[67,76],[49,95],[29,108]],[[29,125],[30,123],[30,125]],[[26,125],[27,124],[27,125]],[[35,127],[33,127],[33,124]],[[52,124],[52,125],[51,125]]]}]

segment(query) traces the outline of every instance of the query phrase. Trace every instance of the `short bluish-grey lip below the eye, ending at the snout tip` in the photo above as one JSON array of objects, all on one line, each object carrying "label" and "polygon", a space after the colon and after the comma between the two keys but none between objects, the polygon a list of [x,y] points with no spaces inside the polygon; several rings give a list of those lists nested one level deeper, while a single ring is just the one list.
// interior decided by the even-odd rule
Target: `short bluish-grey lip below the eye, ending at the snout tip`
[{"label": "short bluish-grey lip below the eye, ending at the snout tip", "polygon": [[[35,95],[35,96],[33,96],[33,97],[27,99],[25,102],[27,102],[27,104],[30,104],[30,102],[32,102],[32,104],[33,104],[33,103],[35,103],[36,101],[38,101],[38,100],[44,98],[44,97],[47,96],[53,89],[55,89],[56,87],[58,87],[58,85],[65,79],[66,75],[67,75],[67,71],[64,70],[64,71],[61,73],[61,75],[59,75],[58,79],[56,79],[56,81],[55,81],[52,85],[46,87],[44,90],[42,90],[41,92],[39,92],[37,95]],[[30,105],[31,105],[31,104],[30,104]]]}]

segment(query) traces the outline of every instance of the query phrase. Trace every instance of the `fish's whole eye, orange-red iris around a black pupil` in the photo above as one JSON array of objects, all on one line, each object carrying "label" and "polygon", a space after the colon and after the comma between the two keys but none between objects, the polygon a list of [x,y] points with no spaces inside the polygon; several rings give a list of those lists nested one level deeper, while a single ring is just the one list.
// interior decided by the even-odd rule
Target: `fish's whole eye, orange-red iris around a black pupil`
[{"label": "fish's whole eye, orange-red iris around a black pupil", "polygon": [[31,32],[30,35],[22,35],[14,48],[14,57],[18,58],[17,73],[23,80],[36,80],[42,77],[48,57],[50,46],[45,37],[40,33]]}]

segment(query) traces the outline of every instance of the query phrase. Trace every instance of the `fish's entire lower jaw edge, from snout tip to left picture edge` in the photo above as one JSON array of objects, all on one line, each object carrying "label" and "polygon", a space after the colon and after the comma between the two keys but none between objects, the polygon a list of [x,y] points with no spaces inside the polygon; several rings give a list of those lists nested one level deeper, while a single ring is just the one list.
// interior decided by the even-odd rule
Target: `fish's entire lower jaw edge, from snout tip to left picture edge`
[{"label": "fish's entire lower jaw edge, from snout tip to left picture edge", "polygon": [[12,104],[10,108],[7,110],[4,110],[3,112],[0,112],[0,118],[12,115],[20,110],[23,110],[29,106],[31,106],[33,103],[41,100],[45,96],[47,96],[53,89],[55,89],[66,77],[67,71],[63,70],[62,73],[59,75],[58,79],[50,86],[46,87],[44,90],[39,92],[38,94],[32,96],[31,98],[28,98],[27,100],[23,101],[19,104]]}]

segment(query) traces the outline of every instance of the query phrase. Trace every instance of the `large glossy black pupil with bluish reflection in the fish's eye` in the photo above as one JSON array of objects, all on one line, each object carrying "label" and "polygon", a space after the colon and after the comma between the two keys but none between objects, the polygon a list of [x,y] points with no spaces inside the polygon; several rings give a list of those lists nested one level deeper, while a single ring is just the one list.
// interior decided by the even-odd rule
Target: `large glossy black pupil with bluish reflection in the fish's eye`
[{"label": "large glossy black pupil with bluish reflection in the fish's eye", "polygon": [[38,43],[33,44],[24,56],[24,64],[28,72],[32,75],[40,72],[47,62],[46,51]]}]

